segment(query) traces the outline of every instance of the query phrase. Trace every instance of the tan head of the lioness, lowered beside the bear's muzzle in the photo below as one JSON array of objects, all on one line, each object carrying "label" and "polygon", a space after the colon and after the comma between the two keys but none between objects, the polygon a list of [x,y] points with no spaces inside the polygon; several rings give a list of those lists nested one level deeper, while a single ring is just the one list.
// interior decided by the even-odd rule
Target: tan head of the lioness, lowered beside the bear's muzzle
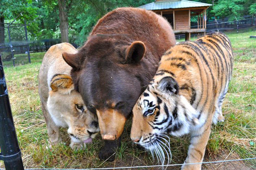
[{"label": "tan head of the lioness, lowered beside the bear's muzzle", "polygon": [[56,74],[50,82],[51,91],[47,108],[57,126],[68,127],[74,143],[91,142],[100,131],[97,116],[91,113],[76,90],[72,78],[66,74]]}]

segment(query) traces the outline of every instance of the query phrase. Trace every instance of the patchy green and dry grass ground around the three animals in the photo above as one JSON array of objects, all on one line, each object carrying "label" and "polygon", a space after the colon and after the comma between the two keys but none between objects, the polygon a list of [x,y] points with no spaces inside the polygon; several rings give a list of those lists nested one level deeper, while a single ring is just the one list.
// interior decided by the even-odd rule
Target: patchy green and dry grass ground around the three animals
[{"label": "patchy green and dry grass ground around the three animals", "polygon": [[[215,157],[223,150],[230,155],[236,153],[239,158],[256,157],[256,39],[249,39],[250,35],[255,35],[255,28],[226,34],[232,42],[235,58],[233,78],[223,103],[226,120],[212,126],[206,148],[207,161],[216,160]],[[46,149],[48,135],[37,92],[37,76],[43,55],[31,54],[31,64],[4,68],[25,167],[97,168],[156,164],[146,152],[133,146],[130,140],[131,120],[126,124],[122,146],[117,150],[114,162],[98,159],[98,152],[103,146],[100,135],[85,150],[71,150],[65,128],[61,129],[64,144],[54,146],[53,150]],[[189,138],[171,139],[171,163],[183,163]],[[248,161],[247,166],[256,166],[255,160]],[[3,167],[0,162],[0,168]]]}]

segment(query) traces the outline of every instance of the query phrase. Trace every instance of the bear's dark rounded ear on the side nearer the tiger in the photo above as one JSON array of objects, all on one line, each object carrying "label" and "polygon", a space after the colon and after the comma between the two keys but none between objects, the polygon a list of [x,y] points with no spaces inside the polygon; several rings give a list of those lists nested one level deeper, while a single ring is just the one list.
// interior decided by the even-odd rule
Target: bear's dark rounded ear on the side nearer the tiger
[{"label": "bear's dark rounded ear on the side nearer the tiger", "polygon": [[141,61],[146,52],[146,46],[141,41],[134,41],[126,49],[125,60],[127,63],[137,63]]}]

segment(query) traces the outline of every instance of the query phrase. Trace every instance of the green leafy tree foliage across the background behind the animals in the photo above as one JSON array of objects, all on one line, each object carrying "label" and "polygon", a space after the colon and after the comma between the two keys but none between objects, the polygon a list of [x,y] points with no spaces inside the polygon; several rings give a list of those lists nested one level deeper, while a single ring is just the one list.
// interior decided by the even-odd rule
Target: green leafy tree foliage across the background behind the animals
[{"label": "green leafy tree foliage across the background behind the animals", "polygon": [[[213,4],[207,10],[208,18],[231,17],[256,13],[255,0],[192,0]],[[86,41],[96,22],[109,11],[117,7],[138,7],[154,0],[66,0],[69,42],[82,45]],[[59,30],[58,0],[0,0],[0,17],[11,22],[20,13],[20,23],[27,20],[30,40],[61,38]],[[191,18],[197,21],[197,17]],[[7,34],[6,34],[7,35]]]}]

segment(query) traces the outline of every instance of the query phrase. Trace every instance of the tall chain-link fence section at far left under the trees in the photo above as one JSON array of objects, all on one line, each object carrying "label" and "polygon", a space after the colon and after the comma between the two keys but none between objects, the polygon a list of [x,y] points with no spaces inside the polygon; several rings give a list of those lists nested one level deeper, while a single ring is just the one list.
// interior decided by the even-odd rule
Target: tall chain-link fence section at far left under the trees
[{"label": "tall chain-link fence section at far left under the trees", "polygon": [[31,62],[26,21],[24,24],[0,23],[0,54],[7,67]]}]

